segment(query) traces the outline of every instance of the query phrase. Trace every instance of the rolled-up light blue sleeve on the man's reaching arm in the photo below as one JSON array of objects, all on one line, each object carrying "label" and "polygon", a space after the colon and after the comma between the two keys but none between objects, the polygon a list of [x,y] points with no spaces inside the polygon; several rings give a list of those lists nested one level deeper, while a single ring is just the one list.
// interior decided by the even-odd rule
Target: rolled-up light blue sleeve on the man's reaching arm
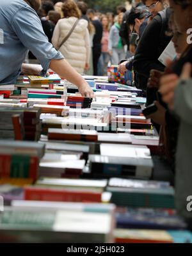
[{"label": "rolled-up light blue sleeve on the man's reaching arm", "polygon": [[45,71],[49,69],[52,59],[64,59],[60,51],[56,51],[48,41],[39,17],[31,7],[23,7],[15,14],[12,28],[20,42],[35,55]]}]

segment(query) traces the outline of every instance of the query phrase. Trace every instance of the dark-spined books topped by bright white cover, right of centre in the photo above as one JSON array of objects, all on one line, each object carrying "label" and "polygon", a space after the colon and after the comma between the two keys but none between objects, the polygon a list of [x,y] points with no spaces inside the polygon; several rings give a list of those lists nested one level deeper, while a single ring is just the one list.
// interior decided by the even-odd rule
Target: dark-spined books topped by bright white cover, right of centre
[{"label": "dark-spined books topped by bright white cover, right of centre", "polygon": [[95,178],[140,178],[152,176],[153,163],[147,147],[122,145],[118,143],[100,144],[100,155],[89,155],[90,172],[85,174]]}]

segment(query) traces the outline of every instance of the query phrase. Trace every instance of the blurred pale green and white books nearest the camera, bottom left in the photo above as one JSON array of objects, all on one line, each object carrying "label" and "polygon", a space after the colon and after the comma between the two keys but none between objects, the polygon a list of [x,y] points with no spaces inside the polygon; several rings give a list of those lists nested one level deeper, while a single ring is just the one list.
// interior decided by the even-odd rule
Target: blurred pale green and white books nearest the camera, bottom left
[{"label": "blurred pale green and white books nearest the camera, bottom left", "polygon": [[0,212],[1,242],[114,242],[111,207],[99,208],[100,212],[95,206],[76,203],[48,209],[28,204],[7,207]]}]

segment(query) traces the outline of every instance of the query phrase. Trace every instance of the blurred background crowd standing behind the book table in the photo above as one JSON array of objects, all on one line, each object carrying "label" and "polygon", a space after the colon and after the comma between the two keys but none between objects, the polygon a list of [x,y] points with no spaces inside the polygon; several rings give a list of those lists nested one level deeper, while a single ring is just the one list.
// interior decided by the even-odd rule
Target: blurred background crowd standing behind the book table
[{"label": "blurred background crowd standing behind the book table", "polygon": [[[141,1],[135,2],[136,6],[143,5]],[[42,0],[38,15],[49,42],[63,53],[77,72],[106,75],[108,64],[117,65],[134,53],[131,47],[129,51],[129,29],[123,26],[127,12],[124,5],[117,6],[115,14],[102,14],[88,8],[83,1]],[[77,20],[74,32],[61,45]],[[29,53],[30,63],[35,63],[34,59]]]}]

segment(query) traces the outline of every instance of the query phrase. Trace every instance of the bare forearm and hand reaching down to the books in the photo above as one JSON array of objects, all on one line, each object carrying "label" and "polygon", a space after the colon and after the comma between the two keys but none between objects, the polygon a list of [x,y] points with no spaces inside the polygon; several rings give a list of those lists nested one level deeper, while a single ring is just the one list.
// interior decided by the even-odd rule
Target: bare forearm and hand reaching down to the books
[{"label": "bare forearm and hand reaching down to the books", "polygon": [[65,59],[61,60],[51,60],[50,66],[54,72],[56,72],[60,77],[67,79],[72,84],[76,84],[79,89],[79,93],[83,96],[93,97],[94,93],[92,88],[87,84],[83,77],[77,71],[68,64]]}]

